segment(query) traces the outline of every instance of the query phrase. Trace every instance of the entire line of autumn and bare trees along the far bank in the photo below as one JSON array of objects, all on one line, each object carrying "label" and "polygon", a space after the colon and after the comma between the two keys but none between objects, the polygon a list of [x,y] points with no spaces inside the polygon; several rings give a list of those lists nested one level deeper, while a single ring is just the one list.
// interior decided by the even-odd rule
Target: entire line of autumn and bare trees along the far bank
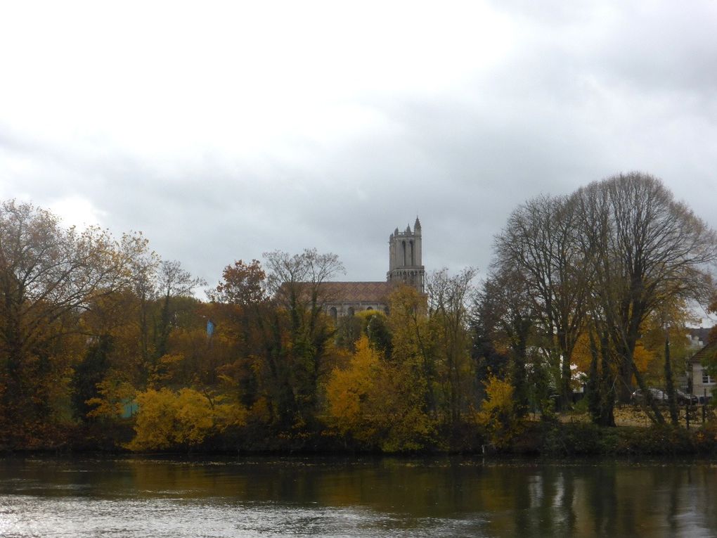
[{"label": "entire line of autumn and bare trees along the far bank", "polygon": [[657,179],[615,176],[521,204],[480,287],[439,270],[425,296],[397,287],[387,314],[334,321],[336,255],[236,261],[201,301],[206,283],[142,235],[4,202],[0,447],[473,450],[579,387],[599,425],[636,386],[667,387],[674,410],[716,243]]}]

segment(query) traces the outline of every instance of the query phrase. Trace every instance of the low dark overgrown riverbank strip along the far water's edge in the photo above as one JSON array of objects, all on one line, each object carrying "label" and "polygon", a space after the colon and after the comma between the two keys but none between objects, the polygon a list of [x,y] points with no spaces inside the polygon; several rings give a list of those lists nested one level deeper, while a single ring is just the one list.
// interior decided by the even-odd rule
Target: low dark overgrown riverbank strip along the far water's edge
[{"label": "low dark overgrown riverbank strip along the far water's edge", "polygon": [[[549,419],[530,417],[511,425],[498,443],[485,431],[464,428],[459,433],[436,436],[433,445],[422,450],[403,451],[404,454],[486,454],[535,456],[547,458],[583,456],[701,456],[717,457],[717,421],[710,420],[690,429],[672,425],[645,425],[639,413],[630,410],[635,418],[628,421],[625,412],[619,412],[619,424],[614,428],[601,428],[589,423],[582,415],[554,415]],[[130,425],[113,430],[113,435],[99,435],[102,430],[77,429],[61,443],[52,446],[34,446],[24,450],[0,449],[2,453],[129,453],[123,448],[131,438]],[[326,430],[303,432],[294,437],[272,436],[262,438],[257,432],[234,430],[225,435],[207,439],[201,445],[172,447],[153,453],[211,454],[273,454],[273,455],[356,455],[387,454],[374,447],[341,438]]]}]

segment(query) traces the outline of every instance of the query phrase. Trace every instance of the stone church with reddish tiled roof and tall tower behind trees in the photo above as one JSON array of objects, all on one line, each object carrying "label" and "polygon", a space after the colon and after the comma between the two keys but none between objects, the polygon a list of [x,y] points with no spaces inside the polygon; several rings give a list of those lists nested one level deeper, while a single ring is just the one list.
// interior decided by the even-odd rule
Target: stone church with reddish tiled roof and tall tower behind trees
[{"label": "stone church with reddish tiled roof and tall tower behind trees", "polygon": [[422,264],[421,222],[411,230],[389,236],[389,270],[382,282],[326,282],[322,284],[326,296],[324,308],[334,319],[353,316],[362,310],[387,312],[389,295],[396,285],[406,284],[425,293],[426,269]]}]

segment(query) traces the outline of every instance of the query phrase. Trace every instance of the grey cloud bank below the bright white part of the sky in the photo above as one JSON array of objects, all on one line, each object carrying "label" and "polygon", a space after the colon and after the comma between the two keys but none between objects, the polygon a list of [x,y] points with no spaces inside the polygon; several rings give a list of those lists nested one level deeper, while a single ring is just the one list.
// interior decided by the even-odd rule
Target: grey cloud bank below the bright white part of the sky
[{"label": "grey cloud bank below the bright white part of the sky", "polygon": [[381,280],[388,235],[417,214],[429,270],[485,273],[517,204],[633,169],[717,225],[714,8],[649,5],[501,3],[523,30],[503,63],[435,93],[377,84],[356,103],[381,121],[337,139],[307,129],[250,158],[211,141],[146,157],[0,128],[3,153],[33,163],[1,172],[37,203],[82,192],[115,234],[142,230],[210,285],[235,259],[304,247],[338,254],[347,279]]}]

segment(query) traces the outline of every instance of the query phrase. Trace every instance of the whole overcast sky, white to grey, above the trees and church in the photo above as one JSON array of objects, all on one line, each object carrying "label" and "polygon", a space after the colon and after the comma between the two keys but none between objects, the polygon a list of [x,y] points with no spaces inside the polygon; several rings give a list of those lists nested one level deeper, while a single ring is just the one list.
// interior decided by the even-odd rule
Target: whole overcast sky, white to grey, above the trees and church
[{"label": "whole overcast sky, white to grey, above the trees and church", "polygon": [[18,1],[0,198],[141,230],[215,284],[304,247],[477,266],[521,202],[621,171],[717,227],[717,2]]}]

